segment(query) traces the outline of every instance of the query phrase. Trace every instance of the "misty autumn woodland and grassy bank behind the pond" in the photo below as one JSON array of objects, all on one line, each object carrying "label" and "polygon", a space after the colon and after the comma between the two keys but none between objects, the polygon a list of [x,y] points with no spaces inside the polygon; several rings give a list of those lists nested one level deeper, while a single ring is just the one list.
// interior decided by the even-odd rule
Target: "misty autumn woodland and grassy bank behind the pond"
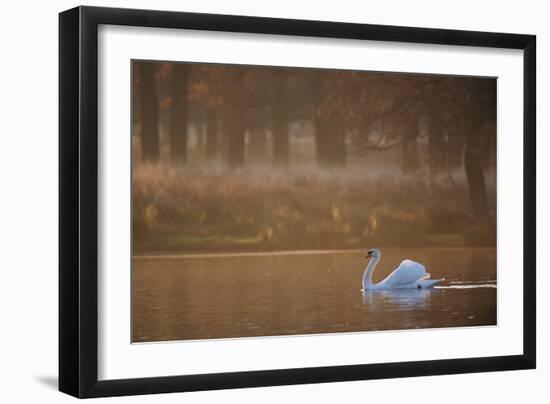
[{"label": "misty autumn woodland and grassy bank behind the pond", "polygon": [[496,245],[496,79],[132,70],[134,254]]}]

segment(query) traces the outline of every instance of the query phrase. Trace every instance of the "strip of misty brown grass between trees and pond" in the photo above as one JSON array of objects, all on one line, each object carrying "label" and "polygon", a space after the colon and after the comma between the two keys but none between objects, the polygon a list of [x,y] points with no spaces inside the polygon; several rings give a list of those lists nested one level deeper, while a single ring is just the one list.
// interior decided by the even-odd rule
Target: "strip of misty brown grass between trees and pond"
[{"label": "strip of misty brown grass between trees and pond", "polygon": [[[173,168],[133,171],[134,253],[494,245],[494,221],[472,222],[461,173],[384,175]],[[495,209],[494,176],[487,180]]]}]

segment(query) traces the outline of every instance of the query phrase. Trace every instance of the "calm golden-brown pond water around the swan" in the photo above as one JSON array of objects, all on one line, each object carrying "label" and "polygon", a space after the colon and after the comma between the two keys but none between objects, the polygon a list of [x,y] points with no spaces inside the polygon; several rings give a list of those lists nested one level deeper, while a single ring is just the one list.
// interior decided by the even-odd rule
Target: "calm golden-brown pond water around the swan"
[{"label": "calm golden-brown pond water around the swan", "polygon": [[363,251],[134,257],[133,342],[496,324],[496,249],[382,249],[374,281],[409,258],[433,289],[362,291]]}]

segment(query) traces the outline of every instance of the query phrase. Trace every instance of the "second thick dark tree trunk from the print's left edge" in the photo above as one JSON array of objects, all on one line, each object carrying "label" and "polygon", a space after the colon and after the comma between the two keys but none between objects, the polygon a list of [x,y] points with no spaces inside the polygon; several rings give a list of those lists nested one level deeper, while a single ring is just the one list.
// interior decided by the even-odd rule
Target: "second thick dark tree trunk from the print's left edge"
[{"label": "second thick dark tree trunk from the print's left edge", "polygon": [[170,120],[170,160],[183,164],[187,160],[187,86],[189,66],[175,64],[172,72],[172,111]]}]

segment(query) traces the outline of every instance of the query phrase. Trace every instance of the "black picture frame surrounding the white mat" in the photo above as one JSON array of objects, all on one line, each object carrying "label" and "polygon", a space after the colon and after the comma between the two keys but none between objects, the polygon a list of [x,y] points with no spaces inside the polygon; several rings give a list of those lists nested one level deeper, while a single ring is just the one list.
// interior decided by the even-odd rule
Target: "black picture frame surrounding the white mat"
[{"label": "black picture frame surrounding the white mat", "polygon": [[[100,24],[523,50],[523,354],[99,381]],[[59,390],[84,398],[535,368],[535,102],[534,35],[96,7],[60,13]]]}]

